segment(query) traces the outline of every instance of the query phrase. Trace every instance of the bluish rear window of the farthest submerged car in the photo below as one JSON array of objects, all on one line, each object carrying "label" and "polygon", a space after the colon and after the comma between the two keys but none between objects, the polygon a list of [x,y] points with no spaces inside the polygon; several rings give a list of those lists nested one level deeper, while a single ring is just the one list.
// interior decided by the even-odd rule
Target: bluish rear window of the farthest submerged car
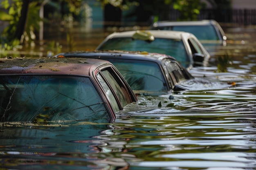
[{"label": "bluish rear window of the farthest submerged car", "polygon": [[166,26],[159,27],[157,29],[173,30],[173,31],[185,31],[193,33],[198,40],[220,40],[213,25],[205,26]]}]

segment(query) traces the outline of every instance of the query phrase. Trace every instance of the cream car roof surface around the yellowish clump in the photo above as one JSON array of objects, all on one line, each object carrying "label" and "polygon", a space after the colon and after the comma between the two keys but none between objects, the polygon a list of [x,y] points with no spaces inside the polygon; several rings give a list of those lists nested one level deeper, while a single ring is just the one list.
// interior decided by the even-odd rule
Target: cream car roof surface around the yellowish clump
[{"label": "cream car roof surface around the yellowish clump", "polygon": [[171,30],[137,30],[137,31],[124,31],[124,32],[116,32],[108,35],[107,38],[130,38],[136,32],[148,32],[153,35],[155,38],[166,38],[166,39],[182,39],[182,35],[193,35],[184,31],[171,31]]}]

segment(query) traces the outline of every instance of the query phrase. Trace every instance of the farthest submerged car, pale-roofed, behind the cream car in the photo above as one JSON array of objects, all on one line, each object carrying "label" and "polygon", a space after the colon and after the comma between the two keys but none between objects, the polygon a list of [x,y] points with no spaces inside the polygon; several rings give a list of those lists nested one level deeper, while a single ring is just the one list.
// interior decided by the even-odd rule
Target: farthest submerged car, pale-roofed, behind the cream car
[{"label": "farthest submerged car, pale-roofed, behind the cream car", "polygon": [[158,21],[151,26],[151,29],[186,31],[193,33],[204,46],[216,44],[226,46],[227,44],[227,36],[220,24],[215,20]]}]

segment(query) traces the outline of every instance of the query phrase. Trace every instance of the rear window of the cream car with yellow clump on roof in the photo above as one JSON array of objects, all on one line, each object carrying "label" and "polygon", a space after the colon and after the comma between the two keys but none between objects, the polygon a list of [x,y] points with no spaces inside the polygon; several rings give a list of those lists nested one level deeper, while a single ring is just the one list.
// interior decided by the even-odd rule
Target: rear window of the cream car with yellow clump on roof
[{"label": "rear window of the cream car with yellow clump on roof", "polygon": [[184,43],[178,39],[155,38],[154,41],[148,42],[132,38],[112,38],[98,50],[147,51],[171,55],[184,65],[190,63]]}]

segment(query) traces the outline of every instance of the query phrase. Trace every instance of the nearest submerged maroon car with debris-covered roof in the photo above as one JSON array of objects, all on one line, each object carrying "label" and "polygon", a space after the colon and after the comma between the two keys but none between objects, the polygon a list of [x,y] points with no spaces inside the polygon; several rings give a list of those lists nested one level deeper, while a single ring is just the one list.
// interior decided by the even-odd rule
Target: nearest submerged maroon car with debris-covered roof
[{"label": "nearest submerged maroon car with debris-covered roof", "polygon": [[137,98],[108,61],[0,59],[0,121],[113,122]]}]

